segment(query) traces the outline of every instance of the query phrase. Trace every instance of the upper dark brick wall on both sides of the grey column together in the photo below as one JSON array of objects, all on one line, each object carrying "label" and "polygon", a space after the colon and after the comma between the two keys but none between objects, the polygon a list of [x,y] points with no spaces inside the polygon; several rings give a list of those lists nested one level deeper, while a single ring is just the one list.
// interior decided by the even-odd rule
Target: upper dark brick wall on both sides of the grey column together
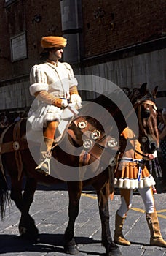
[{"label": "upper dark brick wall on both sides of the grey column together", "polygon": [[[82,0],[84,56],[124,48],[165,34],[164,0],[94,1]],[[61,35],[60,0],[13,1],[4,7],[0,1],[1,80],[29,73],[39,59],[42,36]],[[34,18],[41,15],[36,23]],[[27,33],[28,58],[11,63],[10,37]]]}]

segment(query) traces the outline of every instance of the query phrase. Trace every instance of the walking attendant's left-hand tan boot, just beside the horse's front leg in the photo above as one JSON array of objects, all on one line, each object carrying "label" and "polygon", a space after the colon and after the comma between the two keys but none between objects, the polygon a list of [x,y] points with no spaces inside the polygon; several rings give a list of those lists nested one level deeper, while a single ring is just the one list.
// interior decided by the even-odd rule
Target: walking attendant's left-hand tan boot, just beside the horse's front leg
[{"label": "walking attendant's left-hand tan boot, just beside the horse's front leg", "polygon": [[115,230],[114,230],[114,242],[116,244],[121,244],[121,245],[125,245],[125,246],[130,246],[130,241],[128,241],[122,233],[122,228],[124,225],[126,217],[120,217],[117,214],[116,211],[116,217],[115,217]]}]

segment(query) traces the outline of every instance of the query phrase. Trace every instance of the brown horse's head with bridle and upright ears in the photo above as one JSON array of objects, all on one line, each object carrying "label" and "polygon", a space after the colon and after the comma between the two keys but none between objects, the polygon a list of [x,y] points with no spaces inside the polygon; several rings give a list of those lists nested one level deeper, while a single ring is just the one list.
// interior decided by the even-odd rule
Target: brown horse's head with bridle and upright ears
[{"label": "brown horse's head with bridle and upright ears", "polygon": [[139,142],[143,153],[154,153],[159,146],[159,132],[157,129],[157,107],[155,98],[156,86],[153,91],[147,90],[147,83],[135,88],[129,94],[130,101],[138,116]]}]

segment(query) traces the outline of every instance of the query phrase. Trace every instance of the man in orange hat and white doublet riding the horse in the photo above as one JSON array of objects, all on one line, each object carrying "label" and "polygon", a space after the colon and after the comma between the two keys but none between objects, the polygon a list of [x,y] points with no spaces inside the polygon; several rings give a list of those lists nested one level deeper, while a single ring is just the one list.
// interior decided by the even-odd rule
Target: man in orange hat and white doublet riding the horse
[{"label": "man in orange hat and white doublet riding the horse", "polygon": [[[41,163],[44,162],[47,153],[52,148],[55,130],[63,109],[68,106],[68,102],[79,104],[82,102],[73,69],[70,64],[59,61],[66,43],[66,39],[63,37],[42,37],[41,64],[34,65],[30,72],[30,93],[39,100],[39,108],[36,111],[36,118],[32,122],[32,129],[44,128]],[[36,167],[36,170],[46,175],[49,174],[46,163]]]}]

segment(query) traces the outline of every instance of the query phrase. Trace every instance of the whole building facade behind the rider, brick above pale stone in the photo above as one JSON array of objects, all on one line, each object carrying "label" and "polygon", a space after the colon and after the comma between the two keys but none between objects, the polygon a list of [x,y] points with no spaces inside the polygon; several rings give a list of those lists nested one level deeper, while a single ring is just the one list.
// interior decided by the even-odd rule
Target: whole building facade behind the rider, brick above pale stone
[{"label": "whole building facade behind the rider, brick above pale stone", "polygon": [[46,35],[66,37],[63,59],[76,75],[120,87],[147,82],[165,95],[165,7],[164,0],[0,0],[0,111],[31,106],[29,72]]}]

